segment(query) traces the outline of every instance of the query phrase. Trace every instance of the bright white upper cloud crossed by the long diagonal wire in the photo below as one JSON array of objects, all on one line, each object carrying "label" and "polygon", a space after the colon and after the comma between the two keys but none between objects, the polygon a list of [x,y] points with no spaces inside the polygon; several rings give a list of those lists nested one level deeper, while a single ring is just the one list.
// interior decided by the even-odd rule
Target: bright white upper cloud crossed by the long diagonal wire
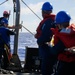
[{"label": "bright white upper cloud crossed by the long diagonal wire", "polygon": [[[22,7],[21,8],[21,14],[23,15],[29,15],[32,14],[33,12],[39,13],[41,11],[41,5],[43,4],[43,2],[37,3],[37,4],[29,4],[27,5],[28,7]],[[32,11],[31,11],[32,10]]]}]

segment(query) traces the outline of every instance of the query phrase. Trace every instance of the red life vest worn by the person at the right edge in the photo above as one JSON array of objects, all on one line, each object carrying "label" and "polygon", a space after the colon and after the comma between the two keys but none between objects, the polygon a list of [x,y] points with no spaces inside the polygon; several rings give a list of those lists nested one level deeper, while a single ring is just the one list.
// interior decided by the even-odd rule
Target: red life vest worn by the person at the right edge
[{"label": "red life vest worn by the person at the right edge", "polygon": [[[58,29],[52,29],[53,33],[55,34],[55,41],[56,44],[59,40],[61,40],[66,48],[70,48],[75,46],[75,25],[72,24],[69,26],[71,29],[70,33],[63,33],[58,32]],[[75,54],[69,51],[64,51],[58,55],[58,60],[65,61],[65,62],[75,62]]]}]

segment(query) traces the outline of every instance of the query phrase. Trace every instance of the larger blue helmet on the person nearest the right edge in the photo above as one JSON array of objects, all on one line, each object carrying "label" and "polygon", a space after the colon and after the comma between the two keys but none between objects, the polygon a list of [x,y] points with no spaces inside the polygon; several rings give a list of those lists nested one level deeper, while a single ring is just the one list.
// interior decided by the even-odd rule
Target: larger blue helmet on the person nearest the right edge
[{"label": "larger blue helmet on the person nearest the right edge", "polygon": [[71,17],[67,12],[60,11],[60,12],[57,13],[57,15],[55,17],[55,23],[61,24],[61,23],[69,22],[70,19],[71,19]]}]

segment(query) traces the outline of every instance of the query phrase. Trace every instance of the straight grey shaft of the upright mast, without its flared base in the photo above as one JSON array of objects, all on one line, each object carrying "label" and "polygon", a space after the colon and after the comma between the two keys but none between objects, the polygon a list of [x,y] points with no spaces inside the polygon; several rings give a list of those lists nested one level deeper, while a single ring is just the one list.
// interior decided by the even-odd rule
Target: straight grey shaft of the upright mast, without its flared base
[{"label": "straight grey shaft of the upright mast, without its flared base", "polygon": [[13,54],[17,54],[18,50],[18,36],[19,36],[19,21],[20,21],[20,2],[16,0],[16,20],[15,20],[15,37],[14,37],[14,52]]}]

